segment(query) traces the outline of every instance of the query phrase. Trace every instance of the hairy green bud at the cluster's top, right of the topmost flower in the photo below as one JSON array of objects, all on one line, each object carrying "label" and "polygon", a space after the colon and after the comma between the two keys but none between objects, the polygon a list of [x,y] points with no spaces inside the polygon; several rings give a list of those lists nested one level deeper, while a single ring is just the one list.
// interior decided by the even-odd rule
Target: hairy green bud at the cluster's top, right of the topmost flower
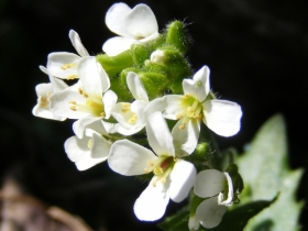
[{"label": "hairy green bud at the cluster's top, right of the topmost flower", "polygon": [[183,54],[187,52],[189,38],[183,22],[174,21],[167,26],[166,43],[174,45]]}]

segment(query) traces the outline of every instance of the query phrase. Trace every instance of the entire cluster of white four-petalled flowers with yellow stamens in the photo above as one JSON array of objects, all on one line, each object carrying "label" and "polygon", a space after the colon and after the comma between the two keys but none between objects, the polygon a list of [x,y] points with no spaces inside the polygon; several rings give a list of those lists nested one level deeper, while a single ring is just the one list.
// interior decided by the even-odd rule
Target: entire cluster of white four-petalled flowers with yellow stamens
[{"label": "entire cluster of white four-petalled flowers with yellow stamens", "polygon": [[[133,9],[125,3],[113,4],[107,12],[106,24],[120,35],[103,44],[102,51],[108,56],[117,56],[132,44],[160,36],[155,15],[145,4]],[[72,30],[69,38],[78,55],[67,52],[48,55],[46,67],[40,68],[48,75],[50,82],[36,86],[38,99],[33,114],[61,121],[76,120],[75,136],[65,142],[65,151],[79,170],[108,161],[112,170],[125,176],[153,174],[134,205],[140,220],[161,219],[169,199],[183,201],[195,186],[195,195],[209,199],[190,216],[189,229],[198,230],[199,224],[218,226],[226,206],[233,201],[232,179],[228,173],[216,169],[197,175],[195,165],[185,157],[191,155],[198,144],[201,122],[219,135],[237,134],[241,107],[210,97],[207,66],[193,78],[183,79],[184,95],[165,92],[151,100],[140,76],[129,72],[125,80],[134,100],[119,101],[118,92],[110,89],[110,77],[97,58],[89,55],[79,35]],[[155,51],[148,58],[160,63],[164,54]],[[76,80],[69,86],[67,80],[70,79]],[[166,120],[177,120],[172,131]],[[151,148],[131,139],[144,130]]]}]

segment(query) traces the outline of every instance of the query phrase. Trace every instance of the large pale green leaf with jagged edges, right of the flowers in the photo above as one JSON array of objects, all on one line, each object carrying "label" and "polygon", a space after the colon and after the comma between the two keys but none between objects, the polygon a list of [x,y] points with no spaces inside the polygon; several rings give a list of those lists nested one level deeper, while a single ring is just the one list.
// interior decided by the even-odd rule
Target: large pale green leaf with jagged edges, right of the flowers
[{"label": "large pale green leaf with jagged edges, right of the flowers", "polygon": [[290,170],[287,164],[287,138],[284,118],[276,114],[256,133],[248,151],[235,163],[245,188],[242,204],[280,196],[270,208],[251,219],[245,231],[295,231],[302,202],[295,199],[302,169]]}]

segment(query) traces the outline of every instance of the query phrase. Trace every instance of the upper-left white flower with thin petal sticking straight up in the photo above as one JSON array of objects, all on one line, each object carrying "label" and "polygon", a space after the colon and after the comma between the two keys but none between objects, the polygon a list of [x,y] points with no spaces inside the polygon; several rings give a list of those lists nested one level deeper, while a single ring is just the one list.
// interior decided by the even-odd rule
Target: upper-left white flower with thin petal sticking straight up
[{"label": "upper-left white flower with thin petal sticking straight up", "polygon": [[77,32],[70,30],[69,38],[79,55],[68,52],[54,52],[48,55],[47,69],[52,76],[63,79],[79,78],[77,68],[81,57],[89,56]]}]

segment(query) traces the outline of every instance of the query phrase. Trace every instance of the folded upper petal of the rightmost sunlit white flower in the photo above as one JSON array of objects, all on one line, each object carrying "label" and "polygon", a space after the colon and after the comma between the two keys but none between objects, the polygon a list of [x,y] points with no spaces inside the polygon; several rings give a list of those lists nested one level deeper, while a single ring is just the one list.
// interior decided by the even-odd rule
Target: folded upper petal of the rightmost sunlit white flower
[{"label": "folded upper petal of the rightmost sunlit white flower", "polygon": [[210,82],[209,82],[210,69],[207,66],[204,66],[199,69],[194,79],[184,79],[183,80],[183,90],[186,95],[190,95],[194,98],[198,99],[200,102],[206,99],[210,92]]}]

